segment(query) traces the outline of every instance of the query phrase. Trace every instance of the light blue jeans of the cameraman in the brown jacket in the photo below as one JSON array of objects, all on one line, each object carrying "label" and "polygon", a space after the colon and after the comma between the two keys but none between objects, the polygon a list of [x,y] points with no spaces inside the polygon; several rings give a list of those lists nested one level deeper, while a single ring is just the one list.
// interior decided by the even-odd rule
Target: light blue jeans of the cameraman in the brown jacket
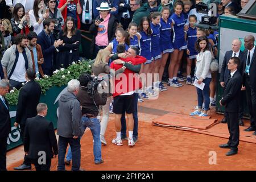
[{"label": "light blue jeans of the cameraman in the brown jacket", "polygon": [[[101,161],[101,139],[100,139],[100,133],[101,133],[101,125],[100,120],[97,118],[87,118],[82,117],[82,127],[85,130],[86,127],[89,127],[90,131],[93,135],[93,155],[94,155],[94,162],[100,162]],[[66,156],[66,160],[71,161],[72,160],[72,147],[69,147],[68,154]]]}]

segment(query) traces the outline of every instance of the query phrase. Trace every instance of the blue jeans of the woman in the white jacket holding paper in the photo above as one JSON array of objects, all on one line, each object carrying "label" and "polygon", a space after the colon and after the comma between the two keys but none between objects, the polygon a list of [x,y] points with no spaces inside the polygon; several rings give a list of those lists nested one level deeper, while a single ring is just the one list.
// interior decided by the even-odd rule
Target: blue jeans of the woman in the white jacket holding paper
[{"label": "blue jeans of the woman in the white jacket holding paper", "polygon": [[204,103],[204,110],[209,110],[209,105],[210,105],[210,81],[212,78],[205,78],[204,82],[204,89],[201,90],[199,88],[196,88],[197,92],[197,102],[198,102],[198,108],[202,109],[203,103]]}]

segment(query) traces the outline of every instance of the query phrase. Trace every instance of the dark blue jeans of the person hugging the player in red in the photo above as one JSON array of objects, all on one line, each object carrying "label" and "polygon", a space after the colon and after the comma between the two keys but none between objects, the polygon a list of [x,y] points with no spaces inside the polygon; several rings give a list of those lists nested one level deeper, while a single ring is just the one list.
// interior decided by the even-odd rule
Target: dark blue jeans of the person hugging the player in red
[{"label": "dark blue jeans of the person hugging the player in red", "polygon": [[[134,127],[133,127],[133,136],[138,137],[138,93],[134,93],[134,112],[133,112],[133,119],[134,119]],[[126,136],[126,121],[125,121],[125,111],[122,113],[121,117],[121,136]]]}]

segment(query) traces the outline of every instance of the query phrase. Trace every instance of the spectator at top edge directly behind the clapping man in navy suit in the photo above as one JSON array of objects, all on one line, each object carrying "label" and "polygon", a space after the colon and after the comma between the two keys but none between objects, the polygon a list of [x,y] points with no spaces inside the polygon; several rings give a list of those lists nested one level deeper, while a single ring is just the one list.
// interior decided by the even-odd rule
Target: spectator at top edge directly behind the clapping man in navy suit
[{"label": "spectator at top edge directly behind the clapping man in navy suit", "polygon": [[64,25],[64,19],[60,10],[56,6],[56,0],[46,0],[47,7],[49,8],[49,18],[55,19],[55,27],[53,30],[53,38],[57,40],[61,31],[61,26]]}]

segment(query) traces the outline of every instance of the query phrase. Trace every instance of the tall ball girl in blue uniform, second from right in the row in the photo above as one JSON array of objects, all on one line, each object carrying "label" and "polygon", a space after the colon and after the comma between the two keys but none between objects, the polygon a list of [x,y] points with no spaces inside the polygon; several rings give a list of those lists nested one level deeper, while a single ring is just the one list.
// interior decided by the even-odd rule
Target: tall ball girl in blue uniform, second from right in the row
[{"label": "tall ball girl in blue uniform, second from right in the row", "polygon": [[173,30],[173,39],[172,44],[174,46],[174,52],[172,53],[171,63],[169,65],[169,86],[180,87],[183,86],[177,80],[177,72],[180,67],[181,58],[183,56],[184,49],[187,49],[187,42],[185,41],[185,33],[184,33],[184,15],[182,11],[184,9],[184,5],[182,1],[176,1],[174,4],[175,13],[171,15],[172,22],[174,26]]}]

